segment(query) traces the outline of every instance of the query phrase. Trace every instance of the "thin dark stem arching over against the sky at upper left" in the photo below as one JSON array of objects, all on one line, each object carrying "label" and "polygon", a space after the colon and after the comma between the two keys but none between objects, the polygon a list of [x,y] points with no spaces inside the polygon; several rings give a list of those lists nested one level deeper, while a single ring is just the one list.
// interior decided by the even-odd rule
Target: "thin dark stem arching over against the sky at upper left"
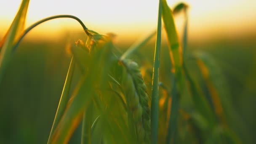
[{"label": "thin dark stem arching over against the sky at upper left", "polygon": [[13,51],[16,50],[16,48],[18,47],[19,43],[21,42],[21,40],[25,37],[25,35],[27,35],[27,33],[32,30],[34,27],[38,26],[39,24],[42,24],[43,22],[45,21],[49,21],[49,20],[52,20],[52,19],[59,19],[59,18],[71,18],[71,19],[75,19],[77,20],[80,25],[83,27],[85,33],[88,35],[88,32],[86,31],[87,30],[87,27],[85,27],[85,24],[83,24],[83,22],[77,18],[76,16],[72,16],[72,15],[57,15],[57,16],[50,16],[48,18],[45,18],[45,19],[42,19],[40,21],[37,21],[36,23],[32,24],[30,27],[28,27],[24,33],[21,35],[21,37],[19,38],[18,42],[14,45],[13,47]]}]

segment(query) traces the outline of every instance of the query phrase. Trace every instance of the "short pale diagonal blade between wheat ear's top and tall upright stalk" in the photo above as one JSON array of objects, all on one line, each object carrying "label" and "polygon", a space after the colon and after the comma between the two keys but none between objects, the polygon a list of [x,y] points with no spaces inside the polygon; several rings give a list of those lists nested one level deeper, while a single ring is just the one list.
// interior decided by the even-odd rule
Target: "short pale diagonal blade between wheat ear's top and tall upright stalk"
[{"label": "short pale diagonal blade between wheat ear's top and tall upright stalk", "polygon": [[130,48],[128,48],[127,51],[125,51],[125,53],[123,53],[120,60],[122,61],[123,59],[126,59],[135,51],[137,51],[139,48],[143,47],[155,34],[156,34],[156,31],[149,34],[146,38],[143,38],[142,40],[139,40],[138,42],[134,43]]}]

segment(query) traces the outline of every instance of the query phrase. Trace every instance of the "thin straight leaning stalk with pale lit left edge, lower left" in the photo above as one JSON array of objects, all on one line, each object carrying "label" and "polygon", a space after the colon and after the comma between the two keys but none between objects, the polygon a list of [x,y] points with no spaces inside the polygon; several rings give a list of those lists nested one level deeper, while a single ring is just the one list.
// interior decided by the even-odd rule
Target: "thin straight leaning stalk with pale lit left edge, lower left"
[{"label": "thin straight leaning stalk with pale lit left edge, lower left", "polygon": [[59,121],[61,120],[62,115],[64,114],[64,110],[66,108],[67,102],[69,101],[69,90],[72,82],[72,75],[74,73],[75,69],[75,61],[72,57],[70,65],[69,65],[69,70],[67,72],[67,77],[65,80],[64,88],[61,94],[61,99],[59,101],[59,106],[53,121],[53,126],[51,128],[50,136],[48,138],[48,144],[50,143],[51,137],[53,135],[53,132],[58,125]]}]

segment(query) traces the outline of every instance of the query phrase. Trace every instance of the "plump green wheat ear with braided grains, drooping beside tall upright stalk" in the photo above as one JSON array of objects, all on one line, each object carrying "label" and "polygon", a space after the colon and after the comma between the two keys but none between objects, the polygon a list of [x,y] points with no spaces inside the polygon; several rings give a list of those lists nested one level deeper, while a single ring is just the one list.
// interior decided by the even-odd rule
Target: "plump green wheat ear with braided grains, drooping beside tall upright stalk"
[{"label": "plump green wheat ear with braided grains, drooping beside tall upright stalk", "polygon": [[128,109],[131,110],[139,143],[150,143],[150,109],[147,87],[136,62],[124,59],[121,88],[125,95]]}]

